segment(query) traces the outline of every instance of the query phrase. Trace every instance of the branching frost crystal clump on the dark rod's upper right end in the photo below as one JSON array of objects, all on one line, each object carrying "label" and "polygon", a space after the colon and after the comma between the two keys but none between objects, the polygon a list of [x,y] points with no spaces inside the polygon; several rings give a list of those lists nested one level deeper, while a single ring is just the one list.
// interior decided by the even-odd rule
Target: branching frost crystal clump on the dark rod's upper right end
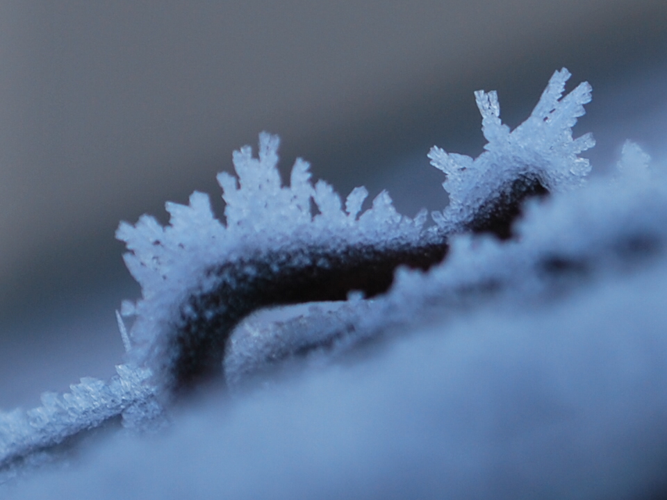
[{"label": "branching frost crystal clump on the dark rod's upper right end", "polygon": [[493,213],[480,214],[479,207],[497,210],[493,205],[513,191],[539,194],[538,186],[557,192],[582,184],[591,166],[578,155],[595,141],[591,134],[573,140],[571,128],[591,101],[591,85],[580,83],[562,97],[569,78],[565,68],[555,72],[530,117],[511,132],[500,121],[496,92],[475,92],[486,151],[475,160],[438,147],[429,152],[431,165],[447,176],[443,187],[450,195],[444,213],[432,214],[438,226],[448,232],[484,228]]}]

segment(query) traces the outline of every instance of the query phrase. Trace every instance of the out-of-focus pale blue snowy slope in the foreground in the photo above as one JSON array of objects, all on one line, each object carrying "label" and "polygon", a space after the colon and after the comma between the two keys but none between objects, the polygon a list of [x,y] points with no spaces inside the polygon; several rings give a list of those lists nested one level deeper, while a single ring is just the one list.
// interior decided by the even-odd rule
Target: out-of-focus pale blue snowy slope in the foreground
[{"label": "out-of-focus pale blue snowy slope in the foreground", "polygon": [[363,363],[215,397],[15,498],[627,498],[667,467],[667,264],[434,320]]}]

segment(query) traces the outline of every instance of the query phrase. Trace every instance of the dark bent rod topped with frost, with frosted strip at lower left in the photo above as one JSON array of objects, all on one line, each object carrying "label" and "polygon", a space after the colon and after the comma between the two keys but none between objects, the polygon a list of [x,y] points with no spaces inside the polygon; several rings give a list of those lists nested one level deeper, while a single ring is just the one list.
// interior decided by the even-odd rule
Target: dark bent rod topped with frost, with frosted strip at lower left
[{"label": "dark bent rod topped with frost, with frosted strip at lower left", "polygon": [[[386,192],[362,212],[368,193],[356,188],[343,208],[331,186],[311,183],[303,160],[295,163],[290,185],[281,185],[279,142],[266,133],[260,135],[258,158],[244,147],[233,155],[236,176],[218,176],[227,203],[224,220],[213,215],[206,194],[195,192],[188,206],[167,203],[167,226],[149,216],[135,225],[122,223],[117,237],[126,242],[126,265],[142,287],[141,299],[122,306],[122,315],[134,318],[124,337],[129,348],[126,365],[108,383],[83,381],[72,387],[72,394],[46,397],[42,408],[2,417],[0,467],[13,467],[119,415],[126,423],[156,418],[162,411],[157,401],[168,405],[174,395],[222,376],[233,327],[258,308],[389,291],[377,310],[397,294],[405,301],[404,308],[386,314],[384,324],[389,324],[400,310],[409,310],[410,301],[427,301],[429,292],[463,297],[465,272],[457,275],[459,285],[447,288],[447,269],[454,262],[468,269],[468,257],[459,251],[463,240],[454,235],[490,232],[507,239],[527,198],[581,185],[588,173],[587,160],[578,154],[593,140],[589,135],[573,140],[571,127],[591,99],[590,86],[582,83],[563,97],[569,76],[565,69],[556,72],[531,117],[514,131],[500,122],[495,92],[475,94],[486,151],[472,160],[431,150],[431,163],[445,172],[443,185],[450,194],[450,205],[433,214],[435,226],[426,225],[425,211],[415,219],[398,214]],[[452,242],[456,260],[448,258],[445,267],[425,275],[434,278],[425,278],[422,295],[402,292],[405,278],[392,288],[396,269],[425,272],[443,260]],[[497,256],[493,262],[507,267],[500,262],[504,247],[494,244],[498,250],[491,252]],[[470,248],[470,262],[488,258],[483,255]],[[469,284],[477,286],[478,275],[470,273],[475,279]],[[360,338],[374,335],[381,325],[357,321]],[[302,336],[283,338],[280,356],[340,345],[340,335],[331,342],[327,335],[337,335],[335,325],[320,335],[319,343]],[[227,363],[230,366],[233,363]],[[234,373],[234,380],[242,376],[238,370]]]}]

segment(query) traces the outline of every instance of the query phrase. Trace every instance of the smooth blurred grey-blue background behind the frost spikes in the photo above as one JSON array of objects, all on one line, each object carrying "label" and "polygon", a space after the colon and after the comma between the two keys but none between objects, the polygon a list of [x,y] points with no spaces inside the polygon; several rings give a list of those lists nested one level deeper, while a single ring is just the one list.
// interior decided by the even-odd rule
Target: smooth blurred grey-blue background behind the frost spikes
[{"label": "smooth blurred grey-blue background behind the frost spikes", "polygon": [[122,359],[138,297],[114,232],[209,192],[267,130],[345,195],[442,208],[433,144],[477,155],[472,92],[525,119],[555,69],[587,80],[595,169],[667,151],[664,0],[0,0],[0,408]]}]

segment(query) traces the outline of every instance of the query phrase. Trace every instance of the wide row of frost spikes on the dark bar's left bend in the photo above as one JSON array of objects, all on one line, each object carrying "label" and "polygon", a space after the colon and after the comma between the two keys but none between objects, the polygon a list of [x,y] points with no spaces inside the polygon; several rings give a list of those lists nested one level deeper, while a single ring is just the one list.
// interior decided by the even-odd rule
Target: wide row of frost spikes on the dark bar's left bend
[{"label": "wide row of frost spikes on the dark bar's left bend", "polygon": [[[169,369],[177,362],[174,356],[188,356],[190,349],[196,351],[188,363],[199,363],[204,357],[202,349],[194,345],[197,335],[229,329],[257,306],[302,298],[293,283],[284,283],[285,289],[265,299],[266,303],[255,303],[263,290],[247,290],[256,288],[254,282],[271,292],[267,282],[277,287],[280,279],[306,281],[308,277],[299,277],[302,270],[337,272],[336,264],[347,258],[351,248],[379,253],[420,243],[426,214],[414,220],[399,215],[386,192],[359,215],[367,192],[357,188],[347,197],[343,210],[330,185],[324,181],[312,185],[303,160],[295,163],[290,186],[282,186],[277,147],[278,138],[263,133],[258,158],[252,157],[249,147],[234,153],[238,178],[225,172],[218,176],[227,203],[225,223],[213,216],[208,196],[196,192],[189,206],[167,203],[169,226],[145,216],[135,226],[121,224],[117,232],[130,250],[125,256],[127,267],[142,286],[142,299],[136,305],[125,303],[122,311],[136,317],[129,354],[134,363],[159,372],[167,385],[173,382]],[[311,201],[317,215],[311,213]],[[220,303],[205,308],[192,303],[193,297],[206,297],[220,286],[229,290]],[[249,295],[246,303],[240,300],[244,294]],[[190,342],[181,348],[186,352],[176,352],[170,335],[176,335],[179,326],[217,317],[222,317],[221,324],[206,324],[204,333],[191,333],[190,339],[183,340]],[[202,342],[206,342],[206,351],[222,349],[206,339]],[[220,365],[220,359],[215,362]]]}]

